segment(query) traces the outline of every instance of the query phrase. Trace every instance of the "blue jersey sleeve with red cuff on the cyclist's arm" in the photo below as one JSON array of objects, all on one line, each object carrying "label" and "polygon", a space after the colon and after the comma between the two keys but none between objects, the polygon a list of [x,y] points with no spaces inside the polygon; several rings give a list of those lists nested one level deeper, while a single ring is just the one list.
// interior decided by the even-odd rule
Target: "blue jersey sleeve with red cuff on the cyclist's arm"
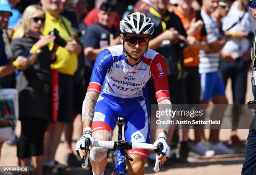
[{"label": "blue jersey sleeve with red cuff on the cyclist's arm", "polygon": [[94,91],[100,94],[103,82],[107,75],[107,72],[113,65],[113,57],[108,49],[102,50],[95,60],[95,64],[92,70],[92,76],[90,84],[87,88],[88,91]]}]

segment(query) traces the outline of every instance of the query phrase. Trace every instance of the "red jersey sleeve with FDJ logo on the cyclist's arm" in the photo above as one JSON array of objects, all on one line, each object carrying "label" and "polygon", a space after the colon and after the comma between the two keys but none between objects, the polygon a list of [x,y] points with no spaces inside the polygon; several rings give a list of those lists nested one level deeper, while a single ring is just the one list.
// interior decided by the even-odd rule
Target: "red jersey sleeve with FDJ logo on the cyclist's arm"
[{"label": "red jersey sleeve with FDJ logo on the cyclist's arm", "polygon": [[150,65],[150,72],[154,77],[154,85],[156,90],[156,100],[170,100],[169,85],[166,74],[166,63],[164,57],[157,54]]}]

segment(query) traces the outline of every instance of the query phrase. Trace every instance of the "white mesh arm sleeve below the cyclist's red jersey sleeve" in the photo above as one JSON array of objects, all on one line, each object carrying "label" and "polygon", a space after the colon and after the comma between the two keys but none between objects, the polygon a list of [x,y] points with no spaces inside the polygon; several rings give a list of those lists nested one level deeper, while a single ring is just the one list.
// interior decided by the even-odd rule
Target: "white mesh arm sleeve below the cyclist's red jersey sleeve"
[{"label": "white mesh arm sleeve below the cyclist's red jersey sleeve", "polygon": [[[159,109],[159,111],[172,110],[171,101],[166,99],[166,100],[162,100],[162,101],[158,102],[158,109]],[[160,120],[160,122],[172,120],[172,115],[164,115],[164,116],[161,115],[159,117],[159,120]],[[166,122],[166,123],[169,123],[169,122]],[[168,133],[170,124],[161,124],[161,125],[158,125],[158,127],[159,127],[158,129],[166,130],[166,132]]]}]

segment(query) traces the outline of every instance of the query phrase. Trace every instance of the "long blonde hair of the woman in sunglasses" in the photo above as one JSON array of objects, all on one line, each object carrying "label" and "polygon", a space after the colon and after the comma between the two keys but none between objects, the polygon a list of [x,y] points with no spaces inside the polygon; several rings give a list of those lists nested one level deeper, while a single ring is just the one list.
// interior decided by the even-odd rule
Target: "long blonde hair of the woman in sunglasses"
[{"label": "long blonde hair of the woman in sunglasses", "polygon": [[19,32],[17,33],[17,35],[13,37],[14,38],[23,37],[28,32],[30,19],[44,15],[44,14],[45,13],[41,5],[29,5],[23,13]]}]

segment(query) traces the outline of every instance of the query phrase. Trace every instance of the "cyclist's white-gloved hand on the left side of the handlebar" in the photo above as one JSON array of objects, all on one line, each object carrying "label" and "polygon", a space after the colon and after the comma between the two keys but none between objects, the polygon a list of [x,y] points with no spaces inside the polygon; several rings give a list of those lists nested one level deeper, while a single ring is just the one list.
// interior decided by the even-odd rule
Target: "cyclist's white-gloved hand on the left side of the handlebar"
[{"label": "cyclist's white-gloved hand on the left side of the handlebar", "polygon": [[93,139],[92,139],[92,131],[90,127],[84,128],[83,133],[82,133],[82,137],[77,140],[77,146],[76,146],[76,151],[77,154],[83,159],[84,155],[85,155],[85,140],[86,138],[90,138],[90,146],[89,146],[89,150],[92,149],[92,143],[93,143]]}]

